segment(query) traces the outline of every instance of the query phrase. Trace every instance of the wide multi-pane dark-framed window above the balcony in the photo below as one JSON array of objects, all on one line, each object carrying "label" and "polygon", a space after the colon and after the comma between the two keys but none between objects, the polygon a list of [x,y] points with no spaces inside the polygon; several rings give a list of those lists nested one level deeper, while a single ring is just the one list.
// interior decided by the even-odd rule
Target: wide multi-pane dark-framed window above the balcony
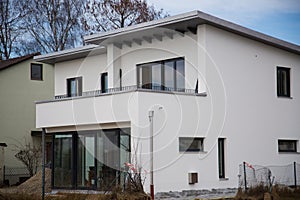
[{"label": "wide multi-pane dark-framed window above the balcony", "polygon": [[184,91],[184,58],[156,61],[137,66],[138,87],[152,90]]}]

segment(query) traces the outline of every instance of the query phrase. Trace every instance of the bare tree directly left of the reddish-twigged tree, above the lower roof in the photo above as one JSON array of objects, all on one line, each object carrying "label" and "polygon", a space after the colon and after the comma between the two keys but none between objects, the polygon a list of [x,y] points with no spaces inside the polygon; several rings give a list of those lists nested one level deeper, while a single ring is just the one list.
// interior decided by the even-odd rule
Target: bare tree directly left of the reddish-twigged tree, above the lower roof
[{"label": "bare tree directly left of the reddish-twigged tree, above the lower roof", "polygon": [[36,44],[40,52],[48,53],[74,47],[80,43],[81,0],[31,0],[31,14],[25,20],[28,35],[25,40]]}]

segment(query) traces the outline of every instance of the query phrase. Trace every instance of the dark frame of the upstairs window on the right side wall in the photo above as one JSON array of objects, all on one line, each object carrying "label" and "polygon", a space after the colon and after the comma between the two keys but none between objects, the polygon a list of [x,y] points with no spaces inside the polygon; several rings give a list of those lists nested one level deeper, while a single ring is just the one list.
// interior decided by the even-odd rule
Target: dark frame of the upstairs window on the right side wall
[{"label": "dark frame of the upstairs window on the right side wall", "polygon": [[[283,72],[287,74],[286,83],[284,83]],[[276,67],[277,76],[277,97],[291,97],[291,68],[288,67]],[[286,94],[284,92],[284,85],[286,84]]]}]

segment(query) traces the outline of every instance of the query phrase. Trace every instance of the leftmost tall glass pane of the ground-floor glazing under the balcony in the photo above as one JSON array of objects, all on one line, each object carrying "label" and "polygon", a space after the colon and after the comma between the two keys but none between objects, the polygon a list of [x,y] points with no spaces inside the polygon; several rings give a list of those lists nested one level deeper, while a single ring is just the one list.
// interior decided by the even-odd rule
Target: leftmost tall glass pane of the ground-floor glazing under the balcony
[{"label": "leftmost tall glass pane of the ground-floor glazing under the balcony", "polygon": [[72,135],[55,135],[54,186],[72,187]]}]

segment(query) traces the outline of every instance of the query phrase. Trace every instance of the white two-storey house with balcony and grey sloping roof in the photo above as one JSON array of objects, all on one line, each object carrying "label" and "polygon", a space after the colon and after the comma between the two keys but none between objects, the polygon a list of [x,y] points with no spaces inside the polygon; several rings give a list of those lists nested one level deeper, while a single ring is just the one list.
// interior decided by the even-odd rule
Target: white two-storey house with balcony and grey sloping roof
[{"label": "white two-storey house with balcony and grey sloping roof", "polygon": [[106,190],[131,162],[149,191],[149,118],[156,192],[237,187],[243,161],[300,161],[298,45],[199,11],[84,39],[35,57],[55,66],[55,98],[36,102],[53,188]]}]

